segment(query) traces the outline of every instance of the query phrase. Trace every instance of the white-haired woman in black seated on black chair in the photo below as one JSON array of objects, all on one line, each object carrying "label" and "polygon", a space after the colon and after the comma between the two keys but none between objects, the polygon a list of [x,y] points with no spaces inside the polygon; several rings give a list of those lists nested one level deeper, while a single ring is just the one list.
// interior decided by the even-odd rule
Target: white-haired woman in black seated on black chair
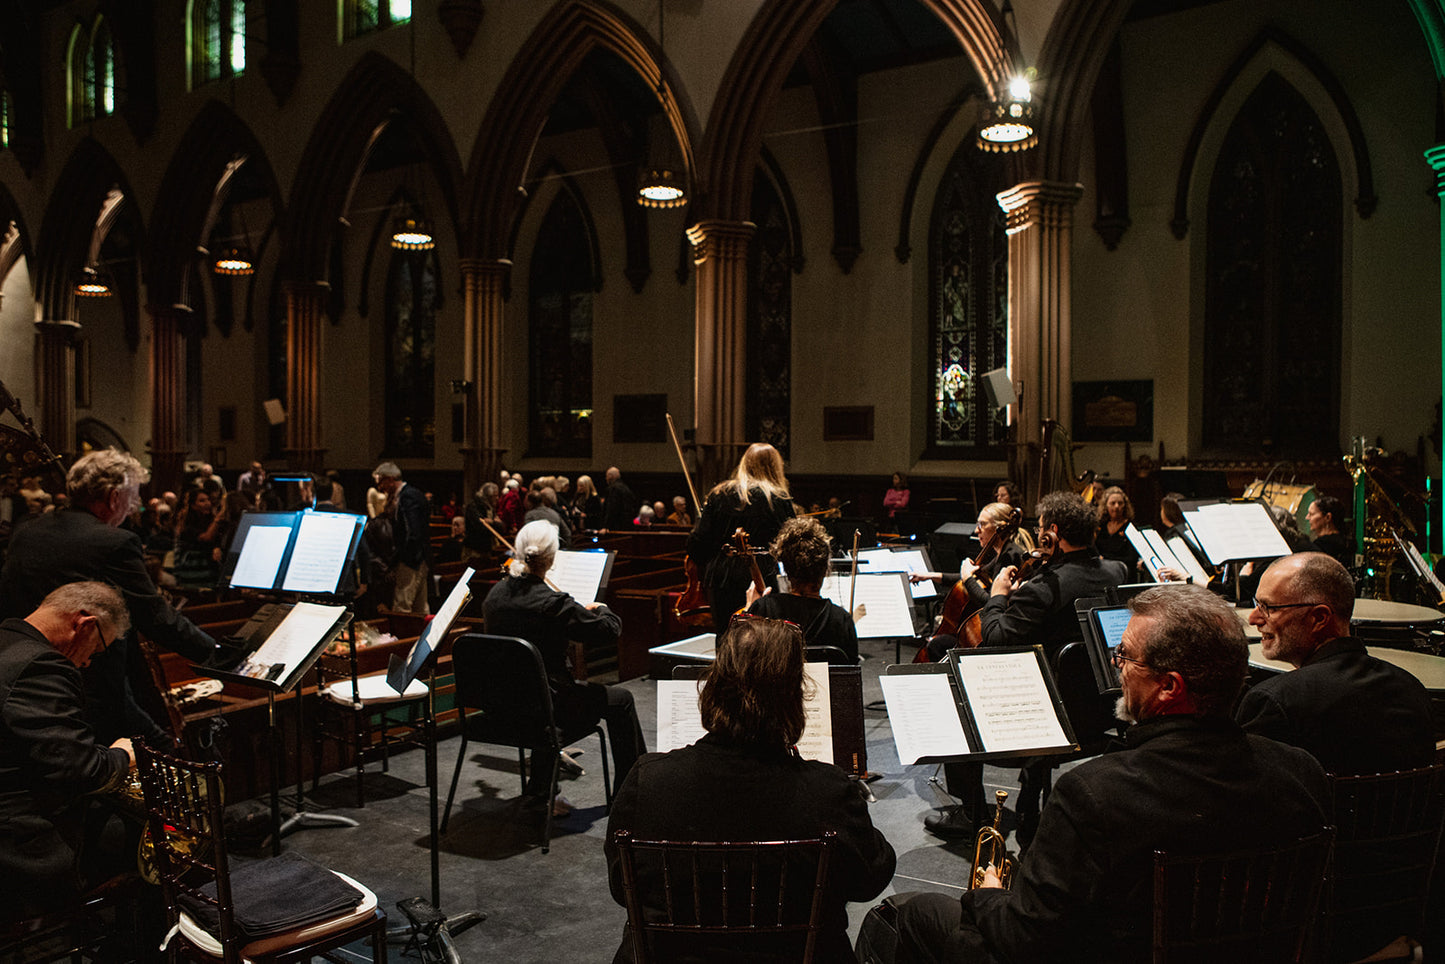
[{"label": "white-haired woman in black seated on black chair", "polygon": [[[562,730],[592,726],[607,720],[607,737],[613,744],[616,780],[620,783],[633,762],[647,752],[637,723],[633,695],[621,687],[581,682],[572,676],[568,643],[616,645],[623,621],[601,603],[578,603],[566,593],[546,584],[546,572],[556,559],[556,526],[543,519],[522,526],[516,538],[516,556],[509,574],[501,578],[481,604],[487,632],[497,636],[519,636],[542,653],[548,682],[552,687],[552,710]],[[533,754],[527,767],[526,796],[545,802],[551,782],[551,766],[538,766]],[[553,812],[569,806],[558,798]]]}]

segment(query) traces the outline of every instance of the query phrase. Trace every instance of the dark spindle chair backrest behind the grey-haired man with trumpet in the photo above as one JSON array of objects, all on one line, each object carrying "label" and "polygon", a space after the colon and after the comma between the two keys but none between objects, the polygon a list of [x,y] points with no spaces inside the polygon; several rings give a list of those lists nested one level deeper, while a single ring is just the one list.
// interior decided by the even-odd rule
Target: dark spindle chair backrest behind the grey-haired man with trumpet
[{"label": "dark spindle chair backrest behind the grey-haired man with trumpet", "polygon": [[1302,960],[1332,841],[1329,828],[1270,850],[1156,850],[1155,963]]}]

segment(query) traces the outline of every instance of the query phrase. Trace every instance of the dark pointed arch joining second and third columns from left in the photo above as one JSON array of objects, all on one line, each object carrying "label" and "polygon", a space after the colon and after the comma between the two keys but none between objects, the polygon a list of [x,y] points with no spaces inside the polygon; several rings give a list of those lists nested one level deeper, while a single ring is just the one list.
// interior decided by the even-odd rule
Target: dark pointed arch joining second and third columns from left
[{"label": "dark pointed arch joining second and third columns from left", "polygon": [[[152,304],[181,301],[182,279],[197,260],[197,246],[204,243],[201,231],[217,182],[237,155],[246,155],[253,176],[267,185],[272,210],[280,210],[280,189],[260,143],[230,107],[208,101],[181,137],[156,194],[144,263]],[[253,247],[259,249],[259,241]]]}]

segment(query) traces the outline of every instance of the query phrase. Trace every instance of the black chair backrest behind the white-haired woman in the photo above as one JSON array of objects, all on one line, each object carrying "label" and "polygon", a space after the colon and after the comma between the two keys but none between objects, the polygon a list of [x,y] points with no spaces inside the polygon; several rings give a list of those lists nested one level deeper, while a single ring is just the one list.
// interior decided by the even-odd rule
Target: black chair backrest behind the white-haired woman
[{"label": "black chair backrest behind the white-haired woman", "polygon": [[525,639],[467,633],[452,643],[457,711],[467,737],[532,750],[559,739],[542,653]]}]

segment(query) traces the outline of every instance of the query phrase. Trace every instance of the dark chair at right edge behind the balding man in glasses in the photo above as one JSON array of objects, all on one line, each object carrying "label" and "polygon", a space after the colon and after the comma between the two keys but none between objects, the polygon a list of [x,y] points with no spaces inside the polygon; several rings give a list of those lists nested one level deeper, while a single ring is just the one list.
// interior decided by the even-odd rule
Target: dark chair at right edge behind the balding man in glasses
[{"label": "dark chair at right edge behind the balding man in glasses", "polygon": [[1337,834],[1325,899],[1329,958],[1413,960],[1445,821],[1445,767],[1329,783]]}]

